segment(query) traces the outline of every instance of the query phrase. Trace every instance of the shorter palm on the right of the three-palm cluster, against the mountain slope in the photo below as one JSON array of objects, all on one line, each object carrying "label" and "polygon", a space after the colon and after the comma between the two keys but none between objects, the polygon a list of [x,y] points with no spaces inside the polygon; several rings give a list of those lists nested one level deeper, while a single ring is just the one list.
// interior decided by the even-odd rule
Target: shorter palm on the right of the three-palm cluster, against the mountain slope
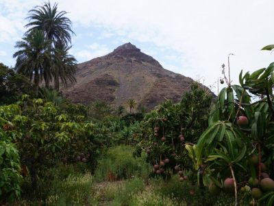
[{"label": "shorter palm on the right of the three-palm cluster, against the mountain slope", "polygon": [[60,80],[65,87],[67,86],[67,80],[76,82],[75,72],[77,69],[77,60],[69,54],[69,49],[71,49],[71,47],[60,42],[55,45],[53,52],[53,77],[57,91],[59,91]]}]

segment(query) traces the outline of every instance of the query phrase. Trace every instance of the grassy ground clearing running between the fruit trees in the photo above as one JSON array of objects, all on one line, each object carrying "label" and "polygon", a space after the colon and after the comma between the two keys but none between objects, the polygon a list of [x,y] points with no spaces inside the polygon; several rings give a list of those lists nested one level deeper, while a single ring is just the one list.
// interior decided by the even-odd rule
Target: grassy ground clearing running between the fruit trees
[{"label": "grassy ground clearing running between the fruit trees", "polygon": [[[83,163],[60,164],[39,181],[35,193],[25,185],[25,194],[12,205],[233,205],[233,196],[212,196],[190,181],[180,182],[177,175],[169,181],[149,179],[145,155],[134,159],[132,151],[131,146],[110,148],[99,160],[94,176]],[[115,179],[106,181],[110,172]]]}]

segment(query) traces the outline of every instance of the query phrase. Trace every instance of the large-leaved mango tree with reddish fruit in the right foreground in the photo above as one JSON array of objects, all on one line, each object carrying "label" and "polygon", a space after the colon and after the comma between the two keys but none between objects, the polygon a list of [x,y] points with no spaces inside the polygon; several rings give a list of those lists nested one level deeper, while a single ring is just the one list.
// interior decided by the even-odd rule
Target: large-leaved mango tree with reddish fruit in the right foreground
[{"label": "large-leaved mango tree with reddish fruit in the right foreground", "polygon": [[247,204],[250,194],[250,205],[273,205],[274,63],[244,76],[241,71],[240,85],[225,80],[210,125],[197,145],[188,145],[189,155],[212,194],[222,188],[234,194],[235,205]]}]

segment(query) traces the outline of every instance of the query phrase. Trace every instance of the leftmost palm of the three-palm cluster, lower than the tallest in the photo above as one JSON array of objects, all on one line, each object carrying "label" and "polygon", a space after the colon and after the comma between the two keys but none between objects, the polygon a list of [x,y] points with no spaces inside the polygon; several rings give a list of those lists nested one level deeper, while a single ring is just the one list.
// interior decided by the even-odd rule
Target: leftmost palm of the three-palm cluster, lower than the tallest
[{"label": "leftmost palm of the three-palm cluster, lower than the tallest", "polygon": [[40,80],[44,78],[47,86],[51,80],[51,41],[45,39],[41,30],[32,30],[22,41],[16,42],[15,47],[19,49],[13,55],[16,58],[16,71],[31,81],[34,78],[37,94]]}]

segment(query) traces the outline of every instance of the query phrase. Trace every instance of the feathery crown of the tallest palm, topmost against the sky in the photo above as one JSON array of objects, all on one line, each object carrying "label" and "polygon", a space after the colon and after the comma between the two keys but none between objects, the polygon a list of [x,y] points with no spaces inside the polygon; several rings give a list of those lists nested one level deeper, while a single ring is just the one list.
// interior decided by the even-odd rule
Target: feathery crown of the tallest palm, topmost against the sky
[{"label": "feathery crown of the tallest palm, topmost against the sky", "polygon": [[58,3],[45,2],[44,5],[36,6],[36,8],[29,10],[29,22],[25,27],[30,27],[27,34],[32,30],[42,30],[45,32],[45,37],[53,41],[53,43],[61,42],[64,45],[71,43],[71,34],[75,34],[71,30],[71,20],[65,15],[67,12],[58,12]]}]

